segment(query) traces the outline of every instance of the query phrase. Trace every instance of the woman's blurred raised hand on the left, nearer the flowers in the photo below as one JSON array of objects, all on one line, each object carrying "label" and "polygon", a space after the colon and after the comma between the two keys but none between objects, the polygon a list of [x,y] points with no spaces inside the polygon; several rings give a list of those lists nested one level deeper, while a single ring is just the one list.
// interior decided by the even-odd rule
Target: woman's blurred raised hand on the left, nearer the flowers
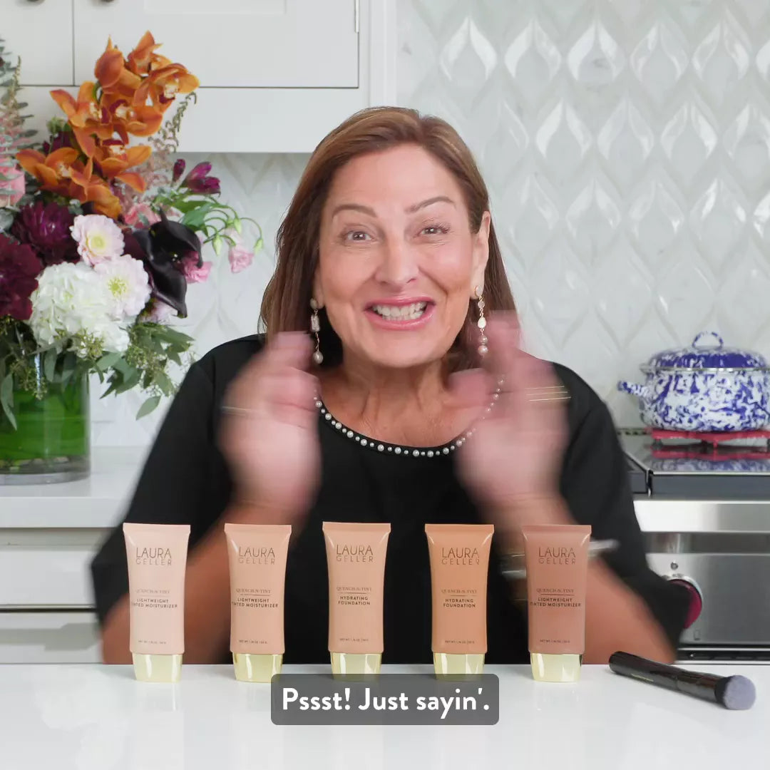
[{"label": "woman's blurred raised hand on the left, nearer the flowers", "polygon": [[269,524],[303,516],[319,483],[318,383],[306,371],[312,351],[304,333],[276,335],[224,400],[221,445],[234,502],[269,517]]}]

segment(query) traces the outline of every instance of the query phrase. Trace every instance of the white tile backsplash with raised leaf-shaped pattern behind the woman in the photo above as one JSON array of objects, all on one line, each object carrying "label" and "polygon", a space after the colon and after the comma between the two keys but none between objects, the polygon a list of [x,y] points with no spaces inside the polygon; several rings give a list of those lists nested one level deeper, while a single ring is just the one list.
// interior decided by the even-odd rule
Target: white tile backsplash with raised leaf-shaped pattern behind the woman
[{"label": "white tile backsplash with raised leaf-shaped pattern behind the woman", "polygon": [[[476,153],[531,350],[623,424],[638,417],[616,381],[663,347],[714,329],[770,354],[770,3],[398,0],[398,14],[399,102]],[[306,159],[211,158],[266,248],[190,287],[181,325],[199,353],[256,330]],[[96,446],[151,440],[164,409],[137,423],[138,393],[97,396]]]}]

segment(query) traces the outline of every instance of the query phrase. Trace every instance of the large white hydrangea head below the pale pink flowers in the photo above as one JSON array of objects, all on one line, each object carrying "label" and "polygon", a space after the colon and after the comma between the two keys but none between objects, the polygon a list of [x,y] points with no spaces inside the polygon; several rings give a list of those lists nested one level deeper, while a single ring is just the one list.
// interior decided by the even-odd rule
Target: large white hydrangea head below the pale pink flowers
[{"label": "large white hydrangea head below the pale pink flowers", "polygon": [[[128,349],[129,334],[112,316],[114,297],[107,282],[89,266],[65,262],[46,267],[31,300],[29,325],[40,345],[82,334],[99,340],[105,352]],[[82,356],[85,350],[76,353]]]}]

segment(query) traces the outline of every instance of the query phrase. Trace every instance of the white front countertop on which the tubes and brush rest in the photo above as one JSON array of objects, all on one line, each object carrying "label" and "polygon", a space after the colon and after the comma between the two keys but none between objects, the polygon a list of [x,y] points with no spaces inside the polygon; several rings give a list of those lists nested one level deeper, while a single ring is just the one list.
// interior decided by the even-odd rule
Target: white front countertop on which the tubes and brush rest
[{"label": "white front countertop on which the tubes and brush rest", "polygon": [[[694,667],[691,667],[694,668]],[[320,671],[323,667],[285,667]],[[383,667],[383,671],[428,671]],[[577,685],[532,681],[526,666],[500,677],[491,726],[276,726],[269,685],[233,679],[229,666],[186,666],[179,685],[134,681],[129,667],[0,666],[3,770],[255,770],[255,768],[522,768],[725,770],[765,766],[770,667],[741,673],[757,688],[749,711],[586,666]]]}]

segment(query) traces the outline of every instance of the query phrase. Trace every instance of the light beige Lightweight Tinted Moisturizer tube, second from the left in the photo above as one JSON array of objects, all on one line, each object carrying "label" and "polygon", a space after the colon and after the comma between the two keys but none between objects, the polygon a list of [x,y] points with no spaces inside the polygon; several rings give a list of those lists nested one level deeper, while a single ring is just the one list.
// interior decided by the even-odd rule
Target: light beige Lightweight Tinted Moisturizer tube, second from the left
[{"label": "light beige Lightweight Tinted Moisturizer tube, second from the left", "polygon": [[290,524],[225,524],[230,651],[238,681],[269,682],[283,665]]}]

